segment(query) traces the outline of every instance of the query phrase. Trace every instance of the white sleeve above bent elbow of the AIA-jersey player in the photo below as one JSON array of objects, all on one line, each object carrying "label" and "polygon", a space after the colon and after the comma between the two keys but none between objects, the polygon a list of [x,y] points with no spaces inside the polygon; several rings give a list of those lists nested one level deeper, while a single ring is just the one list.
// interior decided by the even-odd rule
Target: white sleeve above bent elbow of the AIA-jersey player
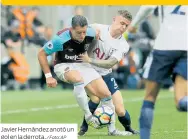
[{"label": "white sleeve above bent elbow of the AIA-jersey player", "polygon": [[112,56],[111,56],[111,57],[116,58],[116,59],[118,60],[118,62],[121,61],[121,59],[124,58],[125,55],[126,55],[126,54],[128,53],[128,51],[129,51],[129,45],[128,45],[128,43],[121,42],[121,43],[120,43],[120,46],[121,46],[120,48],[122,48],[122,49],[116,50],[116,51],[112,54]]}]

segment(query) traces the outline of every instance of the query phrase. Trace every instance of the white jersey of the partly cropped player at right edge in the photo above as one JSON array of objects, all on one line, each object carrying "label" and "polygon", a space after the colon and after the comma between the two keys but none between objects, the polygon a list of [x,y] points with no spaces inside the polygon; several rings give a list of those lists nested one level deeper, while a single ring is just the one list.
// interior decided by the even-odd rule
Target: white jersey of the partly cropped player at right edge
[{"label": "white jersey of the partly cropped player at right edge", "polygon": [[[156,6],[141,6],[132,25],[140,23]],[[187,6],[158,6],[160,30],[155,40],[156,50],[186,50],[188,47]]]}]

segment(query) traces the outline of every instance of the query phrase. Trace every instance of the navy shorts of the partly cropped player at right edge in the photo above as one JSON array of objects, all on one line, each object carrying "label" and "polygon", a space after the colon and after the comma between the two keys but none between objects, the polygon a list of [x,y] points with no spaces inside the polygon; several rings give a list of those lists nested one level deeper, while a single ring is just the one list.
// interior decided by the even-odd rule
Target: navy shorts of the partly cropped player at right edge
[{"label": "navy shorts of the partly cropped player at right edge", "polygon": [[143,77],[157,83],[164,83],[169,77],[174,80],[176,75],[187,80],[187,51],[154,50],[146,63]]}]

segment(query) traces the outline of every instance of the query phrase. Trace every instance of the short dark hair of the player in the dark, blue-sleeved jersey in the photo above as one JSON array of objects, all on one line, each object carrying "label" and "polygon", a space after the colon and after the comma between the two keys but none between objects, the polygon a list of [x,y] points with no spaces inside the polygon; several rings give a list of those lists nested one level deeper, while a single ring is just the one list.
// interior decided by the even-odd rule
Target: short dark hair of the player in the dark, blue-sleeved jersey
[{"label": "short dark hair of the player in the dark, blue-sleeved jersey", "polygon": [[84,27],[84,26],[87,26],[87,25],[88,25],[87,19],[82,15],[75,15],[72,18],[72,27],[73,28],[75,28],[77,26]]}]

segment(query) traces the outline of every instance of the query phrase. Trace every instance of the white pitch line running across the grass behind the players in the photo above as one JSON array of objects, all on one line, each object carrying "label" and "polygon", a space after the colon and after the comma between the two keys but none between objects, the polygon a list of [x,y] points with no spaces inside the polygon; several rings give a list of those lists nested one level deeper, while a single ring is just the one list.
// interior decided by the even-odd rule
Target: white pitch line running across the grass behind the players
[{"label": "white pitch line running across the grass behind the players", "polygon": [[[160,99],[168,99],[173,96],[162,96],[159,97]],[[138,102],[142,101],[143,97],[133,98],[133,99],[124,99],[125,102]],[[54,110],[54,109],[69,109],[69,108],[76,108],[78,104],[71,104],[71,105],[57,105],[57,106],[47,106],[47,107],[39,107],[39,108],[29,108],[29,109],[17,109],[17,110],[8,110],[3,111],[1,115],[9,115],[9,114],[16,114],[16,113],[28,113],[28,112],[37,112],[37,111],[47,111],[47,110]]]}]

